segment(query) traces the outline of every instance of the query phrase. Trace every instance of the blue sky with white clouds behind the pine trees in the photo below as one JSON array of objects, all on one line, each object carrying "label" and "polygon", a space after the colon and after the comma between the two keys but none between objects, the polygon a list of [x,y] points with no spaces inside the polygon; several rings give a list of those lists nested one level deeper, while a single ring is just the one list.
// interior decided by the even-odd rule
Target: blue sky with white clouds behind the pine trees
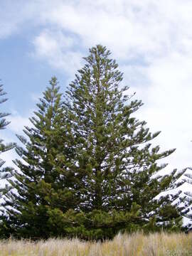
[{"label": "blue sky with white clouds behind the pine trees", "polygon": [[[144,106],[137,112],[161,149],[176,148],[167,170],[192,166],[191,0],[1,0],[0,78],[11,112],[6,142],[17,142],[53,75],[61,90],[100,43]],[[11,165],[14,151],[3,156]]]}]

